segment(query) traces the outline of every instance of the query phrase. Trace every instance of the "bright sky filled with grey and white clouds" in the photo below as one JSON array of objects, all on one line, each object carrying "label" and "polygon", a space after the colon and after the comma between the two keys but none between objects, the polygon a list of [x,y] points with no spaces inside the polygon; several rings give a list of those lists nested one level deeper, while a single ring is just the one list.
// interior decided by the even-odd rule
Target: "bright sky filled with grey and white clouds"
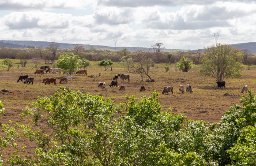
[{"label": "bright sky filled with grey and white clouds", "polygon": [[256,39],[256,0],[0,0],[0,40],[197,49]]}]

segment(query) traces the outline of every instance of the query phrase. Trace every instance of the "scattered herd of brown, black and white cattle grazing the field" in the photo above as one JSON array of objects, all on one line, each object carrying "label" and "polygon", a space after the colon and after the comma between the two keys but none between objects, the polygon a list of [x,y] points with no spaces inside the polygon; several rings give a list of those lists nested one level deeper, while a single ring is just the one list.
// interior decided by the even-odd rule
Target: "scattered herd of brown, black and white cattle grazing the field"
[{"label": "scattered herd of brown, black and white cattle grazing the field", "polygon": [[[45,74],[44,73],[45,70],[46,70],[46,73],[49,72],[49,73],[52,73],[52,74],[56,74],[56,72],[59,72],[59,74],[60,74],[60,72],[61,72],[61,69],[59,69],[59,68],[52,69],[52,68],[50,68],[50,66],[41,66],[40,69],[37,69],[34,72],[34,74]],[[64,71],[63,74],[70,74],[70,73]],[[81,74],[82,75],[83,74],[87,75],[87,70],[79,70],[77,72],[73,72],[73,74],[75,74],[75,75],[77,75],[77,74],[79,74],[79,75],[81,75]],[[98,76],[101,77],[101,73],[99,73]],[[130,76],[128,74],[115,74],[115,76],[113,77],[113,81],[111,81],[111,84],[109,85],[110,87],[117,87],[117,79],[118,79],[118,77],[120,77],[121,82],[124,82],[124,80],[127,80],[127,79],[128,79],[128,82],[130,82]],[[68,79],[72,81],[72,76],[68,75],[66,77],[60,78],[60,84],[68,84]],[[21,75],[21,76],[19,76],[19,79],[18,79],[17,82],[19,82],[19,81],[23,82],[23,80],[25,80],[24,84],[27,84],[27,83],[30,84],[30,82],[32,83],[32,85],[34,84],[34,78],[33,77],[29,77],[28,75]],[[45,85],[46,84],[50,85],[50,83],[53,83],[53,85],[56,85],[56,78],[44,78],[42,83],[45,83]],[[216,83],[218,85],[218,88],[220,88],[220,89],[222,87],[226,88],[225,87],[225,85],[226,85],[225,81],[217,81]],[[105,82],[98,82],[98,87],[101,87],[102,89],[105,88],[106,87]],[[125,91],[124,85],[121,85],[119,90],[120,91]],[[145,91],[145,86],[141,86],[139,91],[140,92]],[[164,94],[164,93],[165,94],[166,93],[169,94],[168,92],[171,92],[173,94],[173,87],[172,86],[164,87],[164,89],[162,91],[162,94]],[[179,86],[179,93],[180,92],[184,93],[183,85]],[[193,90],[191,88],[191,85],[187,85],[186,86],[186,92],[188,92],[188,93],[192,93],[193,92]],[[248,86],[245,85],[240,92],[241,93],[248,92]]]}]

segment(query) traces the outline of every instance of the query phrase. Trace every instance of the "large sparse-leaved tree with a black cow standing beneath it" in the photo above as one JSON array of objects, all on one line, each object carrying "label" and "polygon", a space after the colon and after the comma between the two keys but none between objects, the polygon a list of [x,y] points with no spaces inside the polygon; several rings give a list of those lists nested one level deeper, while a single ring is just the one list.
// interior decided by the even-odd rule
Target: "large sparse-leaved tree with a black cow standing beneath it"
[{"label": "large sparse-leaved tree with a black cow standing beneath it", "polygon": [[226,44],[217,44],[205,48],[200,66],[200,74],[211,76],[222,82],[224,78],[241,77],[239,72],[242,63],[236,59],[242,57],[241,52]]}]

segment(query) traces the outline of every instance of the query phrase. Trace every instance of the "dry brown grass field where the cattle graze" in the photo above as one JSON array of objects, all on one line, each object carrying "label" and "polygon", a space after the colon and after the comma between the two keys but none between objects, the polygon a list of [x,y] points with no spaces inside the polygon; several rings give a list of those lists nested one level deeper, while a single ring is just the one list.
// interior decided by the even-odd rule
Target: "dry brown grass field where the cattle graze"
[{"label": "dry brown grass field where the cattle graze", "polygon": [[[113,64],[113,71],[104,71],[104,68],[98,66],[98,62],[91,62],[93,66],[87,68],[86,76],[72,75],[73,81],[68,81],[68,84],[59,84],[60,78],[66,76],[66,74],[44,74],[35,75],[33,69],[34,64],[28,63],[25,68],[17,65],[19,60],[14,60],[15,67],[10,71],[7,69],[0,69],[0,90],[8,89],[9,91],[15,91],[15,94],[0,93],[0,98],[4,103],[5,112],[0,115],[0,122],[8,123],[19,122],[21,124],[26,123],[26,120],[21,120],[19,114],[21,114],[26,106],[38,99],[38,96],[44,97],[53,95],[59,86],[67,87],[73,90],[84,91],[85,93],[91,93],[93,95],[99,94],[105,98],[113,100],[117,105],[120,102],[125,102],[125,96],[135,95],[139,98],[143,93],[147,97],[151,96],[151,92],[156,90],[160,93],[159,102],[164,106],[162,111],[168,110],[169,107],[173,108],[173,113],[182,113],[188,116],[188,119],[199,120],[202,119],[206,122],[217,122],[221,120],[221,117],[225,110],[229,109],[230,105],[239,103],[241,98],[241,89],[244,85],[248,85],[249,89],[255,88],[256,80],[256,66],[252,66],[251,70],[242,70],[242,77],[235,79],[225,79],[226,89],[217,89],[216,80],[212,77],[203,77],[198,73],[198,66],[195,66],[189,72],[177,71],[175,72],[173,64],[171,69],[166,72],[164,67],[166,64],[156,64],[151,68],[150,76],[155,79],[155,82],[149,83],[145,80],[141,81],[139,74],[129,74],[130,82],[124,80],[121,83],[118,78],[118,86],[109,87],[115,74],[127,74],[127,70],[119,63]],[[42,61],[39,66],[44,66]],[[21,65],[19,65],[21,66]],[[55,68],[54,64],[49,65]],[[98,76],[101,72],[101,77],[93,78],[89,75]],[[34,85],[25,85],[23,82],[17,82],[20,75],[28,75],[34,77]],[[42,83],[43,78],[56,78],[57,85],[45,85]],[[97,82],[105,82],[106,89],[98,88]],[[178,93],[179,85],[184,87],[189,84],[192,87],[193,93],[185,92],[184,94]],[[125,91],[119,91],[120,85],[125,86]],[[140,92],[140,86],[145,86],[146,91]],[[162,95],[162,89],[165,86],[173,86],[173,94]],[[20,91],[20,92],[18,92]],[[223,96],[224,93],[230,93],[234,96]],[[244,94],[247,96],[247,94]]]}]

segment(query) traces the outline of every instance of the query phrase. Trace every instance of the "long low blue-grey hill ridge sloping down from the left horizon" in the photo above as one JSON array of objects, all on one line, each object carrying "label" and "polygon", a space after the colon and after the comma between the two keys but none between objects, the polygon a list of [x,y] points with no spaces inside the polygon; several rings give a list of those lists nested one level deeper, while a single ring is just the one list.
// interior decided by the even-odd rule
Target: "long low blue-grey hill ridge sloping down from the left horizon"
[{"label": "long low blue-grey hill ridge sloping down from the left horizon", "polygon": [[[0,46],[5,45],[8,48],[30,48],[30,47],[38,47],[43,46],[43,48],[47,47],[49,44],[52,44],[53,42],[47,42],[47,41],[4,41],[0,40]],[[86,49],[90,49],[91,47],[97,49],[97,50],[111,50],[114,51],[114,47],[104,46],[104,45],[90,45],[90,44],[80,44]],[[70,43],[60,43],[61,49],[67,49],[67,48],[74,48],[74,45]],[[117,47],[117,50],[122,50],[124,48],[127,48],[128,51],[134,52],[133,47]],[[148,49],[148,48],[139,48],[139,49]],[[163,49],[163,52],[176,52],[177,49]],[[179,51],[188,51],[188,50],[179,50]]]}]

